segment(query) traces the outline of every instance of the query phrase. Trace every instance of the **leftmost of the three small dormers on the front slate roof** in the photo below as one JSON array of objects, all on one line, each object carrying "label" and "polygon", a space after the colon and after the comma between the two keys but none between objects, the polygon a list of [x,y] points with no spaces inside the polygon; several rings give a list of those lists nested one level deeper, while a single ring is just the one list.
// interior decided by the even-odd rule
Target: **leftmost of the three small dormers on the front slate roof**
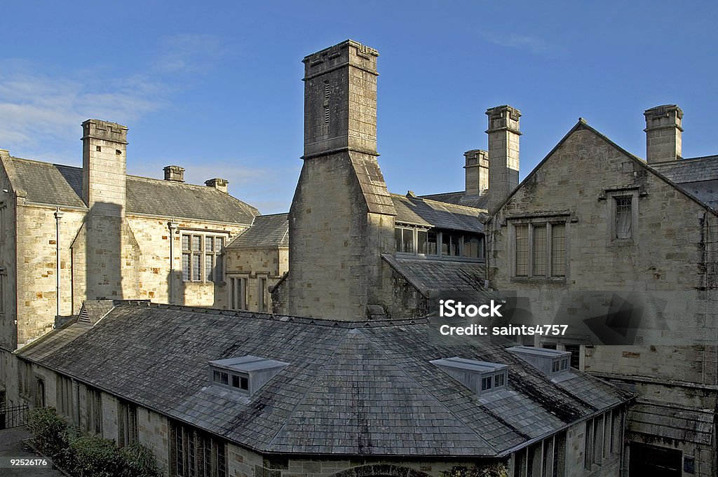
[{"label": "leftmost of the three small dormers on the front slate roof", "polygon": [[251,396],[289,363],[257,356],[210,361],[210,384],[236,389]]}]

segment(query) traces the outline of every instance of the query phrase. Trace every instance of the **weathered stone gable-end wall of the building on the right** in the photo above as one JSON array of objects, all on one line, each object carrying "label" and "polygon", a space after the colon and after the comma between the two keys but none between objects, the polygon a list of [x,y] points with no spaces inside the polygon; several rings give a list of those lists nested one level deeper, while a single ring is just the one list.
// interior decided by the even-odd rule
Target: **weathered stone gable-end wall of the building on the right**
[{"label": "weathered stone gable-end wall of the building on the right", "polygon": [[[616,238],[615,197],[633,198],[630,238]],[[516,276],[516,224],[551,221],[566,227],[565,276]],[[556,318],[561,324],[558,321],[572,313],[581,313],[561,308],[568,293],[607,292],[607,297],[619,296],[619,305],[620,296],[648,304],[632,346],[587,347],[588,372],[620,379],[638,393],[638,402],[660,403],[676,412],[707,404],[714,409],[710,402],[715,402],[716,392],[705,389],[718,379],[718,217],[579,124],[487,228],[491,285],[528,298],[535,322],[554,323]],[[633,302],[638,296],[648,300]],[[610,310],[609,303],[605,305]],[[650,386],[641,384],[648,381]],[[676,382],[681,386],[674,386]],[[680,437],[686,432],[677,429],[669,447],[696,455],[696,461],[709,455],[710,449],[696,449],[689,438]],[[663,445],[656,436],[629,437]],[[700,464],[696,475],[714,475],[715,453],[709,461]]]}]

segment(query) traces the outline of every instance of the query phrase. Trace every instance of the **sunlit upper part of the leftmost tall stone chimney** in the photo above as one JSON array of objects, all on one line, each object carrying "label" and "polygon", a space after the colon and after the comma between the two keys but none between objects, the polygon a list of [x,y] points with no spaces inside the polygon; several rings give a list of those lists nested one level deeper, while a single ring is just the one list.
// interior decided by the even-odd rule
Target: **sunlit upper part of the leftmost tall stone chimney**
[{"label": "sunlit upper part of the leftmost tall stone chimney", "polygon": [[99,119],[82,126],[83,200],[94,214],[123,217],[127,127]]}]

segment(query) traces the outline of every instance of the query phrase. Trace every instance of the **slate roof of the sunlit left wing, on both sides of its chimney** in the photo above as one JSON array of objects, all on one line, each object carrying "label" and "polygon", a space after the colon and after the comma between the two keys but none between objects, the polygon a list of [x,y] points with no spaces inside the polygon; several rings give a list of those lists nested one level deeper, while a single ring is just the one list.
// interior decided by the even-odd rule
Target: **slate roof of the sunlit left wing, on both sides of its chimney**
[{"label": "slate roof of the sunlit left wing, on both sides of its chimney", "polygon": [[[85,207],[83,170],[28,159],[10,158],[13,189],[41,204]],[[250,224],[259,212],[229,194],[208,186],[127,176],[127,212],[183,219]]]}]

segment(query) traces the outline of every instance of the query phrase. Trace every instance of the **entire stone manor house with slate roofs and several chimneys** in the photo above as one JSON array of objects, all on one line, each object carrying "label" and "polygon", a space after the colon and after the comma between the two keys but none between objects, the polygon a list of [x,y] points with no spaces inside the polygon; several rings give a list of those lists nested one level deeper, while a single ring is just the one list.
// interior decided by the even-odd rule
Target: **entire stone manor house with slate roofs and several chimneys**
[{"label": "entire stone manor house with slate roofs and several chimneys", "polygon": [[[579,120],[521,184],[521,113],[490,108],[464,191],[394,194],[377,57],[304,58],[287,214],[180,166],[126,175],[116,123],[83,123],[82,168],[0,150],[6,403],[139,440],[168,476],[715,476],[718,156],[681,157],[680,108],[645,112],[645,161]],[[575,326],[442,336],[446,293]],[[597,319],[630,341],[595,344]]]}]

